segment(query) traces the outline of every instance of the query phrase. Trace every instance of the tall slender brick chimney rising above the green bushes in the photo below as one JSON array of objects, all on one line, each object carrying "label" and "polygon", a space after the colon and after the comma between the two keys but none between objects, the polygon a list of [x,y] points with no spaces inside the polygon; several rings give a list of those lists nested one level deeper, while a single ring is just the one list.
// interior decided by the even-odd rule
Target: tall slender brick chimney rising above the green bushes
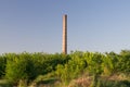
[{"label": "tall slender brick chimney rising above the green bushes", "polygon": [[67,15],[63,15],[63,53],[67,54]]}]

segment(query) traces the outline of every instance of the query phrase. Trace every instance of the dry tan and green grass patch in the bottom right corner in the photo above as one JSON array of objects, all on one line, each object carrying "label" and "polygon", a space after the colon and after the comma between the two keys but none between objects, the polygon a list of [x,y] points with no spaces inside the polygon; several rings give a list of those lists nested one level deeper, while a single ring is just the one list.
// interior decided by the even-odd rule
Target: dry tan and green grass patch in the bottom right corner
[{"label": "dry tan and green grass patch in the bottom right corner", "polygon": [[130,77],[126,74],[115,74],[100,78],[100,87],[130,87]]}]

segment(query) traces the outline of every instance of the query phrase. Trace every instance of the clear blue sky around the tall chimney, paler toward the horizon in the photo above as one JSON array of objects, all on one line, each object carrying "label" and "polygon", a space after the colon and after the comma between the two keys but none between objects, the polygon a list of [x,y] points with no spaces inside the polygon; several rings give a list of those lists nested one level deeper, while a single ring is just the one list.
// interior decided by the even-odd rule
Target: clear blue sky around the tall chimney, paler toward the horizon
[{"label": "clear blue sky around the tall chimney, paler toward the horizon", "polygon": [[130,0],[0,0],[0,53],[62,52],[63,14],[68,51],[130,49]]}]

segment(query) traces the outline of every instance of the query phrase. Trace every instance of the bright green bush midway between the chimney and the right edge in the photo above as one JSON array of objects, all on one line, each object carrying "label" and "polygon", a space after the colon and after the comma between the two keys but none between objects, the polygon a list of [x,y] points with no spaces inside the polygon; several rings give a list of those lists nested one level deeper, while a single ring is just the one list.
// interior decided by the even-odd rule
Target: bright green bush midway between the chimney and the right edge
[{"label": "bright green bush midway between the chimney and the right edge", "polygon": [[89,73],[91,73],[92,75],[103,73],[102,63],[103,63],[104,58],[105,58],[104,54],[101,54],[98,52],[95,52],[95,53],[86,52],[84,59],[88,63],[87,69],[89,71]]}]

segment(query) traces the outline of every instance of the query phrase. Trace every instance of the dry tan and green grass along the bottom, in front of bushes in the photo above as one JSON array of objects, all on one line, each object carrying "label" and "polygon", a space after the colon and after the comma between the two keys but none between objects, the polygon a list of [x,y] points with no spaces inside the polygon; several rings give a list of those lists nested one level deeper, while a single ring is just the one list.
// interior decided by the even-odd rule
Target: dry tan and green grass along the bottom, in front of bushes
[{"label": "dry tan and green grass along the bottom, in front of bushes", "polygon": [[[119,75],[120,77],[120,75]],[[99,77],[96,86],[94,87],[130,87],[129,77],[117,79],[117,76]],[[65,87],[91,87],[92,76],[82,76],[69,82]],[[29,87],[63,87],[64,83],[61,83],[53,74],[38,76]],[[6,79],[0,79],[0,87],[13,87]]]}]

